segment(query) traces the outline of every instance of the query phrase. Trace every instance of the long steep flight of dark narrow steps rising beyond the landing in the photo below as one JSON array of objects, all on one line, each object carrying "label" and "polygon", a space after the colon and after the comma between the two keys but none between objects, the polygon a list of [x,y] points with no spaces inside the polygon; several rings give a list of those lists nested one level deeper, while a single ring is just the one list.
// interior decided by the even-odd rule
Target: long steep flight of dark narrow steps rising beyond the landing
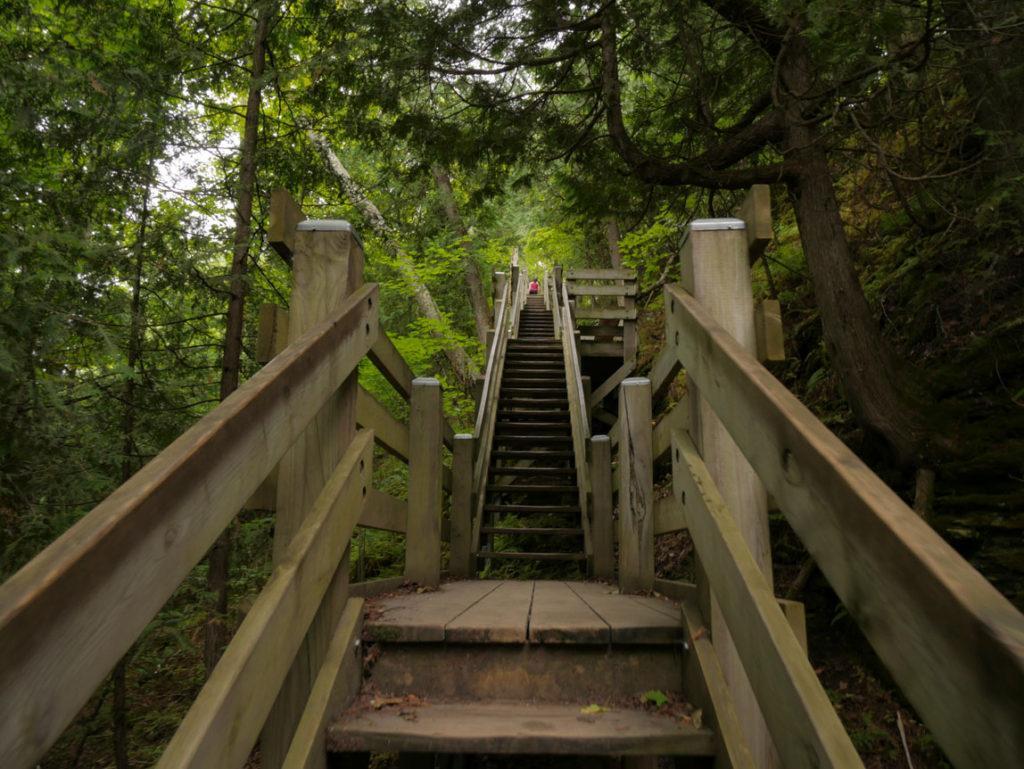
[{"label": "long steep flight of dark narrow steps rising beyond the landing", "polygon": [[508,343],[490,459],[478,555],[586,560],[562,346],[541,297]]}]

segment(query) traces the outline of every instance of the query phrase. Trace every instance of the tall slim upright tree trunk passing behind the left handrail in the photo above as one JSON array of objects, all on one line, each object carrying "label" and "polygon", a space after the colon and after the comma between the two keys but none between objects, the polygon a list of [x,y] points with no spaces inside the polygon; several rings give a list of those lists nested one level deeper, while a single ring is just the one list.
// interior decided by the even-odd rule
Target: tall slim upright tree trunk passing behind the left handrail
[{"label": "tall slim upright tree trunk passing behind the left handrail", "polygon": [[[266,66],[266,38],[273,5],[260,3],[253,35],[252,76],[246,100],[246,122],[239,147],[239,187],[234,207],[234,250],[231,256],[230,299],[227,303],[227,330],[220,370],[220,399],[239,387],[242,365],[242,331],[245,321],[246,274],[249,270],[249,245],[252,239],[253,189],[256,185],[256,142],[259,131],[260,96]],[[231,552],[230,528],[225,529],[210,549],[206,575],[207,590],[214,596],[204,628],[203,661],[207,675],[216,666],[227,639],[227,582]]]}]

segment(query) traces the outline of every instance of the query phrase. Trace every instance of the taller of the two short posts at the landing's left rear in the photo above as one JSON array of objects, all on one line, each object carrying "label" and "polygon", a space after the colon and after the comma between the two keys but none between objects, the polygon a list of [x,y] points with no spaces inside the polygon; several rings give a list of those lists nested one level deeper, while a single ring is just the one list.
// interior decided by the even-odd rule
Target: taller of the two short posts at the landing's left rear
[{"label": "taller of the two short posts at the landing's left rear", "polygon": [[410,402],[406,576],[441,581],[441,385],[431,377],[413,380]]}]

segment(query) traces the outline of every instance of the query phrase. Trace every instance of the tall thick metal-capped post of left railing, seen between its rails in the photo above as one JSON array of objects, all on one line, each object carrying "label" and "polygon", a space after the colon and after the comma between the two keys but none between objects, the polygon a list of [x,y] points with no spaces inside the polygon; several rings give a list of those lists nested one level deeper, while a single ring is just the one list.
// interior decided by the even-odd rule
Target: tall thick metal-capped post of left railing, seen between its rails
[{"label": "tall thick metal-capped post of left railing, seen between its rails", "polygon": [[[294,203],[279,194],[271,206],[271,222],[278,217],[296,222]],[[288,205],[286,205],[288,204]],[[340,219],[298,221],[292,248],[292,298],[288,339],[294,342],[334,312],[345,297],[362,285],[362,247],[351,225]],[[271,229],[278,231],[271,226]],[[285,238],[285,233],[280,236]],[[281,563],[288,545],[302,525],[324,483],[355,435],[357,375],[352,374],[330,398],[305,432],[285,455],[278,470],[278,516],[273,533],[273,563]],[[331,634],[348,598],[348,555],[339,554],[340,564],[302,647],[295,655],[288,678],[260,737],[262,765],[282,765],[295,727],[302,716]]]}]

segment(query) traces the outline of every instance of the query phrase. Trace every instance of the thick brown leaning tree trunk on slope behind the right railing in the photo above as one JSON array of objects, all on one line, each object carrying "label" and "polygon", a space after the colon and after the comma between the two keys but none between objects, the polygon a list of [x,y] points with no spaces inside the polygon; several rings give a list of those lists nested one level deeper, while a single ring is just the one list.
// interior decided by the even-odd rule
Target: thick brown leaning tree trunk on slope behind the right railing
[{"label": "thick brown leaning tree trunk on slope behind the right railing", "polygon": [[821,136],[801,114],[801,96],[811,90],[810,72],[806,43],[794,35],[779,62],[788,92],[784,152],[798,168],[787,184],[825,346],[857,420],[888,443],[900,464],[909,465],[927,431],[854,271]]}]

